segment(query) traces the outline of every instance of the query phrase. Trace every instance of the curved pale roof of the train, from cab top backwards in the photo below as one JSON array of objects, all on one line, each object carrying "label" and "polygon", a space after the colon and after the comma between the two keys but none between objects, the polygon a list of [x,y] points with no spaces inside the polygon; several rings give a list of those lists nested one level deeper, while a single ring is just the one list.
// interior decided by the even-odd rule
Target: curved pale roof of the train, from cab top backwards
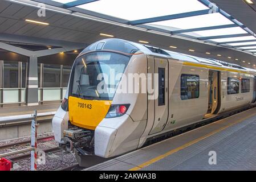
[{"label": "curved pale roof of the train, from cab top backwards", "polygon": [[238,64],[228,63],[226,61],[221,61],[221,60],[212,59],[212,58],[203,58],[203,57],[197,57],[192,55],[186,55],[180,52],[173,52],[166,49],[161,49],[159,47],[143,45],[143,44],[131,42],[128,40],[116,39],[116,38],[99,40],[98,42],[95,42],[90,46],[88,46],[86,49],[84,49],[84,51],[82,51],[81,54],[90,52],[90,51],[99,50],[99,49],[119,51],[127,54],[135,53],[137,51],[142,51],[147,55],[161,56],[161,57],[172,58],[172,59],[181,60],[181,61],[189,61],[192,63],[213,65],[215,67],[229,68],[229,69],[235,69],[243,72],[256,73],[256,69],[242,67]]}]

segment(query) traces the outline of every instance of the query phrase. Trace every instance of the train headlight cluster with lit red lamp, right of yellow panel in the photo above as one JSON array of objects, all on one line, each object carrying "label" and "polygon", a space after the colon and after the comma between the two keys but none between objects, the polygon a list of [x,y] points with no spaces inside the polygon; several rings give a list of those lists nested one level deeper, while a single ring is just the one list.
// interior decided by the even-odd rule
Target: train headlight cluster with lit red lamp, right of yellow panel
[{"label": "train headlight cluster with lit red lamp, right of yellow panel", "polygon": [[111,105],[108,110],[108,114],[106,115],[105,118],[120,117],[127,112],[129,106],[130,106],[129,104]]}]

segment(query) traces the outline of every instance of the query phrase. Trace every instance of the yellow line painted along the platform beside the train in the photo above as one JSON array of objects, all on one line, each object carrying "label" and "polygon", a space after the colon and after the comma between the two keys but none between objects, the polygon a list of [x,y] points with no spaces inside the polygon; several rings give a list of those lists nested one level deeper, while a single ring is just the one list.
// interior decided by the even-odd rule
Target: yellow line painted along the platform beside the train
[{"label": "yellow line painted along the platform beside the train", "polygon": [[[255,115],[255,113],[250,114],[250,115],[248,115],[248,116],[245,117],[245,118],[239,119],[238,121],[236,121],[236,122],[234,122],[234,123],[230,123],[230,124],[227,125],[227,126],[221,127],[220,129],[217,129],[217,130],[215,130],[215,131],[212,131],[211,133],[206,134],[206,135],[204,135],[203,137],[200,137],[200,138],[197,138],[197,139],[195,139],[195,140],[192,140],[191,142],[188,142],[188,143],[186,143],[186,144],[184,144],[184,145],[182,145],[182,146],[180,146],[180,147],[174,148],[173,150],[170,150],[170,151],[166,152],[165,154],[159,155],[159,156],[157,156],[156,158],[153,158],[153,159],[151,159],[151,160],[148,160],[148,161],[145,162],[145,163],[139,164],[139,166],[133,167],[133,168],[129,169],[128,171],[137,171],[137,170],[139,170],[139,169],[141,169],[141,168],[147,167],[147,166],[149,166],[149,165],[151,165],[151,164],[153,164],[153,163],[155,163],[155,162],[157,162],[157,161],[159,161],[159,160],[161,160],[161,159],[166,158],[166,157],[169,156],[169,155],[172,155],[172,154],[174,154],[174,153],[176,153],[176,152],[178,152],[178,151],[180,151],[180,150],[182,150],[182,149],[184,149],[184,148],[186,148],[186,147],[192,146],[193,144],[195,144],[195,143],[197,143],[197,142],[200,142],[201,140],[204,140],[204,139],[206,139],[206,138],[208,138],[208,137],[210,137],[210,136],[212,136],[212,135],[214,135],[214,134],[217,134],[217,133],[219,133],[220,131],[227,129],[227,128],[230,127],[230,126],[233,126],[233,125],[235,125],[235,124],[237,124],[237,123],[239,123],[239,122],[242,122],[242,121],[244,121],[244,120],[247,119],[247,118],[253,117],[253,115]],[[220,121],[221,121],[221,120],[220,120]],[[207,125],[206,125],[206,126],[207,126]]]}]

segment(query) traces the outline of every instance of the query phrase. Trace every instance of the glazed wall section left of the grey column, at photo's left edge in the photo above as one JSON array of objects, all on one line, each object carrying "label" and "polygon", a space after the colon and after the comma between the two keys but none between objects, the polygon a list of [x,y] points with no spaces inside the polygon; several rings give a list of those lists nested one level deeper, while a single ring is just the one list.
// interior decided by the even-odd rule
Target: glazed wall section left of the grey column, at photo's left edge
[{"label": "glazed wall section left of the grey column, at photo's left edge", "polygon": [[22,104],[26,101],[27,63],[0,61],[0,104]]}]

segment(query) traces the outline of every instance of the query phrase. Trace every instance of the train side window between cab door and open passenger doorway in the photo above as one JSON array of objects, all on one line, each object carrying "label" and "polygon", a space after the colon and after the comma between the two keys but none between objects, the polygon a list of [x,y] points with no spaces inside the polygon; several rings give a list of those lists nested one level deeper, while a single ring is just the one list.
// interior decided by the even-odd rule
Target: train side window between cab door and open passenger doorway
[{"label": "train side window between cab door and open passenger doorway", "polygon": [[181,100],[199,97],[200,77],[198,75],[181,75]]}]

